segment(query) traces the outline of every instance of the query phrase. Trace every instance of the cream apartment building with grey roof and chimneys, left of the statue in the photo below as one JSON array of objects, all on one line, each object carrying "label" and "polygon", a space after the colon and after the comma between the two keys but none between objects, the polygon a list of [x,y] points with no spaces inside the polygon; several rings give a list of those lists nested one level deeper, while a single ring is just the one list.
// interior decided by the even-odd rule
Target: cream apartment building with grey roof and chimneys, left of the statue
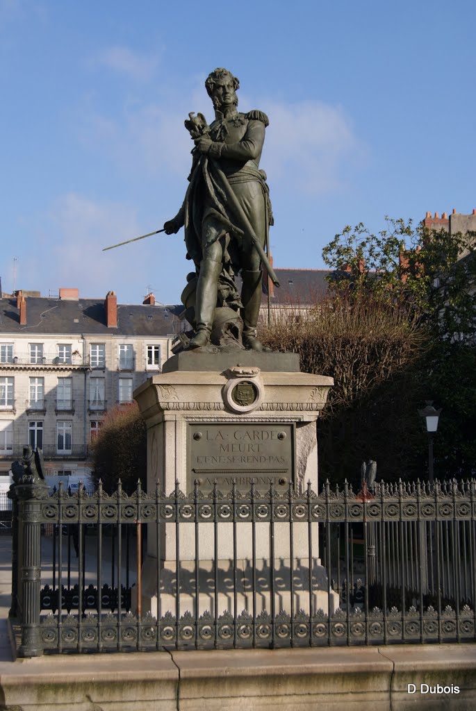
[{"label": "cream apartment building with grey roof and chimneys, left of the statue", "polygon": [[31,444],[43,449],[47,474],[88,476],[105,413],[160,372],[183,307],[155,304],[153,294],[131,305],[115,292],[31,293],[0,299],[0,474]]}]

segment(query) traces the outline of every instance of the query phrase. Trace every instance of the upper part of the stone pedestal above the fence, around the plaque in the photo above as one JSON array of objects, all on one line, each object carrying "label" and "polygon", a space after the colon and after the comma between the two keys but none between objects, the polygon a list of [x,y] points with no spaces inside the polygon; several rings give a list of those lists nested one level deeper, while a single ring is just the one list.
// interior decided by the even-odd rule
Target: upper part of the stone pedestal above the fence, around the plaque
[{"label": "upper part of the stone pedestal above the fence, around the plaque", "polygon": [[[333,380],[297,372],[296,359],[295,354],[248,351],[181,353],[167,361],[162,374],[134,392],[147,422],[148,491],[154,491],[158,481],[169,493],[178,481],[181,491],[188,493],[201,478],[196,476],[199,469],[209,469],[207,476],[216,477],[218,488],[226,490],[239,476],[247,479],[243,486],[249,491],[253,478],[264,474],[282,493],[288,483],[279,483],[287,478],[279,476],[282,469],[292,469],[296,488],[308,480],[317,488],[316,421]],[[289,370],[277,370],[279,366]],[[193,427],[199,431],[192,436]],[[202,464],[194,460],[194,442],[200,434],[215,437],[215,444],[210,442],[211,459]],[[289,461],[281,463],[273,459],[272,442],[276,438],[279,445],[280,437],[293,439],[286,455]],[[223,447],[218,446],[220,441]],[[203,447],[196,449],[201,456]],[[226,475],[223,483],[220,477]]]}]

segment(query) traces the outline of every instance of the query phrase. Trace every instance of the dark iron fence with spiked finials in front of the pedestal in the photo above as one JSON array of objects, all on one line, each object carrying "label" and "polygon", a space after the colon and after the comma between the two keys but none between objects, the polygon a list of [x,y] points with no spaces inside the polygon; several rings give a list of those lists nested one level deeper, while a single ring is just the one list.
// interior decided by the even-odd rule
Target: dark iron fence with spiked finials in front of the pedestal
[{"label": "dark iron fence with spiked finials in front of the pedestal", "polygon": [[475,639],[474,480],[11,496],[21,656]]}]

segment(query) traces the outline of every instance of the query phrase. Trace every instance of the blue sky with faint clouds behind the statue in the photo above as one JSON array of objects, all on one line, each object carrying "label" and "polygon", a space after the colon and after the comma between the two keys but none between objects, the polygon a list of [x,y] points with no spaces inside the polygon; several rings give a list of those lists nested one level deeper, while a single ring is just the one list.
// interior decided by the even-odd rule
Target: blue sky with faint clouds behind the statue
[{"label": "blue sky with faint clouds behind the statue", "polygon": [[189,111],[240,78],[270,117],[275,266],[320,268],[344,225],[476,208],[474,1],[0,0],[4,291],[152,289],[178,303]]}]

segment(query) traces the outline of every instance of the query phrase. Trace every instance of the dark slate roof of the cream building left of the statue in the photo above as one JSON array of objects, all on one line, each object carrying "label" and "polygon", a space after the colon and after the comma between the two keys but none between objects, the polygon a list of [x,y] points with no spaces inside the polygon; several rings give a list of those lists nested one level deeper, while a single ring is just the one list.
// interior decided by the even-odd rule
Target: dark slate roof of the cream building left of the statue
[{"label": "dark slate roof of the cream building left of the statue", "polygon": [[169,336],[181,331],[183,306],[117,304],[117,328],[107,328],[103,299],[75,301],[28,296],[26,326],[20,326],[16,299],[0,299],[0,333],[115,333],[124,336]]}]

